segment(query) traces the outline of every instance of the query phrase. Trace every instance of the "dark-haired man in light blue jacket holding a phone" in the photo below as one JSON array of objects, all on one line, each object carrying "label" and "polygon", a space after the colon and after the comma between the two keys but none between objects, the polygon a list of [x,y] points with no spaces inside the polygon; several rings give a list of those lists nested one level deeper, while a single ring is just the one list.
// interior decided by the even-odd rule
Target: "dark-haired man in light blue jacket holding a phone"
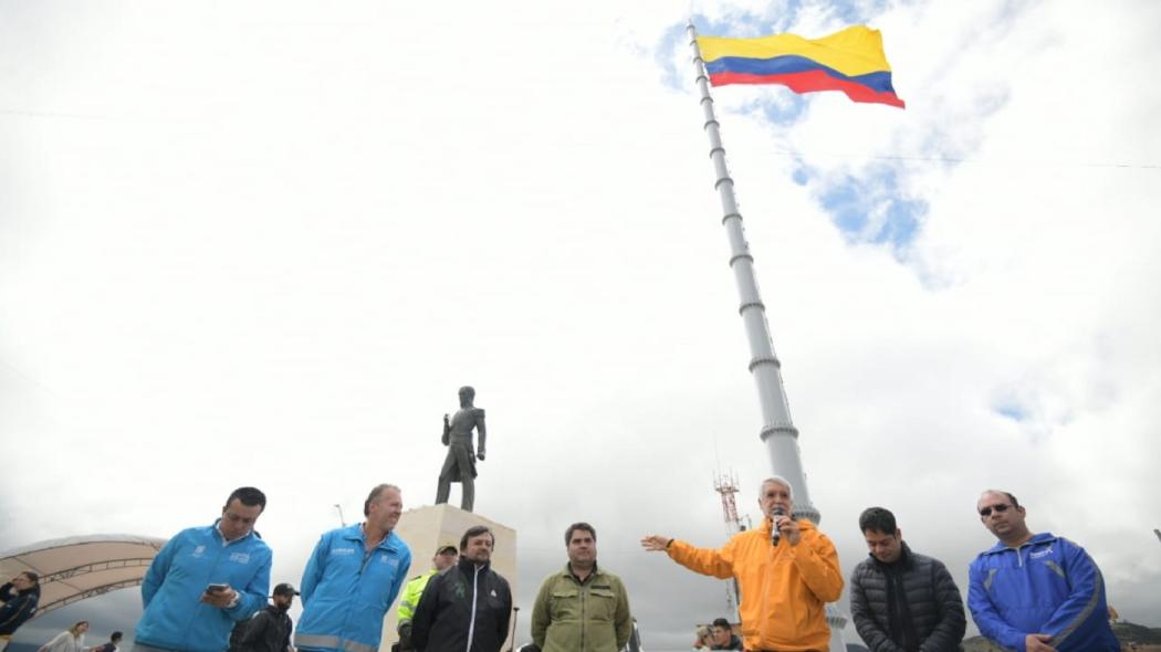
[{"label": "dark-haired man in light blue jacket holding a phone", "polygon": [[266,606],[272,553],[254,531],[266,495],[235,490],[212,526],[178,533],[142,581],[135,652],[221,652],[236,621]]}]

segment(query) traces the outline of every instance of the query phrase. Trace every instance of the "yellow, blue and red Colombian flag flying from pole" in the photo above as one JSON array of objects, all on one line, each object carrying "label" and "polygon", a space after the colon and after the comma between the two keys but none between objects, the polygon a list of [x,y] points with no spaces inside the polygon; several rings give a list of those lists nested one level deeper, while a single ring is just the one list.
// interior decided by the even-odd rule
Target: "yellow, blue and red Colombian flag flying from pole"
[{"label": "yellow, blue and red Colombian flag flying from pole", "polygon": [[698,46],[714,86],[781,84],[795,93],[842,90],[856,102],[904,108],[890,85],[882,37],[866,26],[814,39],[793,34],[699,36]]}]

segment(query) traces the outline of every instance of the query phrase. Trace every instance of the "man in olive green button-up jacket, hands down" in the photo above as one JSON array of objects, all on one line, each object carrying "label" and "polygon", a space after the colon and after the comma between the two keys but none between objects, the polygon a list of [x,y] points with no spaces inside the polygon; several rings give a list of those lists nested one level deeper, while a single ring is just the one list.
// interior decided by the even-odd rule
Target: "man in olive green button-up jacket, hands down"
[{"label": "man in olive green button-up jacket, hands down", "polygon": [[633,633],[621,578],[597,567],[597,531],[564,533],[569,563],[545,579],[532,608],[532,640],[542,652],[616,652]]}]

